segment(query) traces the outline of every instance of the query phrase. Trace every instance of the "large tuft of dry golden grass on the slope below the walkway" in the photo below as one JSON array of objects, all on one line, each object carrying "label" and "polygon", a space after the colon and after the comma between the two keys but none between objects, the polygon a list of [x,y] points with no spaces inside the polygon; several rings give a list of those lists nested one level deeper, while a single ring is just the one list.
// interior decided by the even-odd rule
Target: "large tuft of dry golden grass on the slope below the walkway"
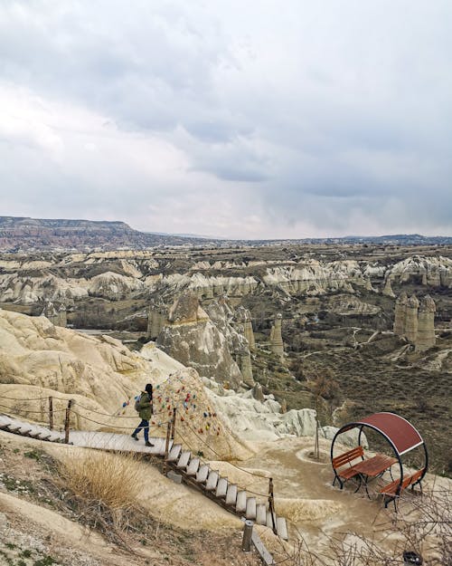
[{"label": "large tuft of dry golden grass on the slope below the walkway", "polygon": [[106,452],[70,453],[58,469],[61,499],[112,542],[127,546],[126,532],[143,532],[138,504],[144,472],[137,456]]}]

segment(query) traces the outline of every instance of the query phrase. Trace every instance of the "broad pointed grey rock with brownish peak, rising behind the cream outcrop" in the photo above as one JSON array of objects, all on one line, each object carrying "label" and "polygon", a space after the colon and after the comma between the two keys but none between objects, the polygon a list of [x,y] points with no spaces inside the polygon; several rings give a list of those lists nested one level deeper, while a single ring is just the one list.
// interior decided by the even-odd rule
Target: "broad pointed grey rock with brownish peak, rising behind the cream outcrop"
[{"label": "broad pointed grey rock with brownish peak, rising behind the cream outcrop", "polygon": [[203,311],[196,293],[182,293],[174,302],[156,344],[201,376],[239,387],[242,376],[228,340]]}]

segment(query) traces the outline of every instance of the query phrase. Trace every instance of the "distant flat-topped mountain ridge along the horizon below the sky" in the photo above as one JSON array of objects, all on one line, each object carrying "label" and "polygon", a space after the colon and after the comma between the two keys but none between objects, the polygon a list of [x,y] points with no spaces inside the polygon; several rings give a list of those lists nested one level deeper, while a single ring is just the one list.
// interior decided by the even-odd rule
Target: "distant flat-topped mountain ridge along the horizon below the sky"
[{"label": "distant flat-topped mountain ridge along the horizon below the sky", "polygon": [[0,216],[0,251],[29,252],[44,250],[118,248],[145,249],[163,245],[452,245],[450,236],[380,235],[336,238],[299,238],[268,240],[227,240],[202,235],[171,235],[134,230],[125,222],[107,220],[74,220],[64,218],[30,218]]}]

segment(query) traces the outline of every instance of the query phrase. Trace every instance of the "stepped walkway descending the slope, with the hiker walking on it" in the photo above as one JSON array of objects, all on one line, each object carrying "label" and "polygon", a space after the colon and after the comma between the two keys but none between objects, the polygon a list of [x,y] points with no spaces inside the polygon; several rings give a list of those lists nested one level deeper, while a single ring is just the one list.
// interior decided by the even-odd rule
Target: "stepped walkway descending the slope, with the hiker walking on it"
[{"label": "stepped walkway descending the slope, with the hiker walking on it", "polygon": [[[17,418],[0,415],[0,429],[16,435],[29,436],[46,442],[64,442],[64,435],[40,425],[23,422]],[[160,436],[150,437],[154,445],[146,447],[142,441],[136,442],[128,435],[106,432],[71,431],[70,441],[73,446],[95,448],[99,450],[139,452],[149,456],[165,457],[166,439]],[[284,517],[270,513],[265,495],[259,501],[255,494],[248,494],[239,485],[229,482],[209,464],[184,450],[180,444],[170,440],[166,463],[174,472],[182,475],[185,483],[195,486],[212,501],[220,504],[230,513],[250,519],[255,523],[268,526],[277,532],[281,539],[287,540],[287,523]],[[273,515],[273,516],[272,516]]]}]

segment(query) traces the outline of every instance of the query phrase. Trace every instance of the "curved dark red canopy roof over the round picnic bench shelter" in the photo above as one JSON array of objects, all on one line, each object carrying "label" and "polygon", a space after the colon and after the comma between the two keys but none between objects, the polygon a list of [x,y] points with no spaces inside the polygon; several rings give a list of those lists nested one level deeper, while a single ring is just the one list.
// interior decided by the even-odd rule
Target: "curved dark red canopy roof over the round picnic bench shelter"
[{"label": "curved dark red canopy roof over the round picnic bench shelter", "polygon": [[424,442],[422,436],[408,420],[394,413],[374,413],[370,417],[365,417],[353,423],[353,425],[355,427],[366,425],[375,428],[391,440],[400,456]]}]

